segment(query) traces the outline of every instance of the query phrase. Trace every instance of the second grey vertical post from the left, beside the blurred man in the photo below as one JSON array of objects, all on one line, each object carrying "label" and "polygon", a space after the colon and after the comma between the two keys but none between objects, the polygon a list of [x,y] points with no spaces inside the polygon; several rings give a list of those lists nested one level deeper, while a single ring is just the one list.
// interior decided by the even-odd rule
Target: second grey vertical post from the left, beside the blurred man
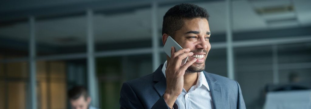
[{"label": "second grey vertical post from the left, beside the blurred man", "polygon": [[92,98],[91,105],[94,107],[99,106],[98,102],[98,85],[95,74],[95,57],[94,57],[94,31],[93,31],[93,10],[88,9],[87,13],[87,80],[88,91]]}]

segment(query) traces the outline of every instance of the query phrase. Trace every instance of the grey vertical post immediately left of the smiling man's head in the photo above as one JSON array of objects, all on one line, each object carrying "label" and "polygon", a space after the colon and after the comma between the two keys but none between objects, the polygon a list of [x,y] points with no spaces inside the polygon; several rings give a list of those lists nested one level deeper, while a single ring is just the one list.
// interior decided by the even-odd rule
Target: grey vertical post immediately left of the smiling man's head
[{"label": "grey vertical post immediately left of the smiling man's head", "polygon": [[159,36],[158,36],[158,3],[153,1],[151,4],[151,21],[152,21],[152,69],[156,71],[160,65],[160,53],[159,53]]}]

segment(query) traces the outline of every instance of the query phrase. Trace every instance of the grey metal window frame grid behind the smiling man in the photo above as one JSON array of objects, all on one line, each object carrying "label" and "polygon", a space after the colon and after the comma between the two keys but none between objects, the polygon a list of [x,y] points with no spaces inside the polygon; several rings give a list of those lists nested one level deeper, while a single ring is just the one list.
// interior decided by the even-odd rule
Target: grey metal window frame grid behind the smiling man
[{"label": "grey metal window frame grid behind the smiling man", "polygon": [[[262,46],[272,45],[273,51],[273,83],[278,83],[278,70],[283,67],[278,66],[277,63],[277,45],[279,44],[293,44],[301,42],[311,42],[310,36],[295,36],[292,38],[271,38],[271,39],[258,39],[258,40],[232,40],[232,2],[226,0],[227,3],[227,31],[226,31],[226,42],[211,43],[211,49],[227,49],[227,67],[228,77],[234,79],[234,53],[233,49],[238,47],[250,47],[250,46]],[[160,53],[164,53],[163,47],[159,46],[158,40],[158,23],[156,20],[157,11],[159,4],[156,1],[151,2],[151,24],[152,24],[152,47],[151,48],[138,48],[138,49],[125,49],[125,50],[113,50],[113,51],[94,51],[94,31],[93,31],[93,10],[86,10],[87,17],[87,52],[86,53],[73,53],[73,54],[61,54],[61,55],[49,55],[49,56],[36,56],[35,47],[35,17],[29,17],[30,24],[30,40],[29,40],[29,57],[14,58],[14,59],[3,59],[0,63],[12,63],[12,62],[29,62],[30,67],[30,109],[37,108],[37,97],[36,97],[36,61],[37,60],[69,60],[69,59],[87,59],[87,71],[88,71],[88,86],[89,92],[92,97],[92,105],[99,106],[98,99],[98,85],[95,73],[95,58],[96,57],[108,57],[108,56],[127,56],[127,55],[141,55],[141,54],[152,54],[153,70],[155,70],[160,64]],[[295,63],[294,63],[295,64]],[[310,63],[299,63],[299,66],[303,64],[309,66]],[[283,65],[288,66],[288,65]]]}]

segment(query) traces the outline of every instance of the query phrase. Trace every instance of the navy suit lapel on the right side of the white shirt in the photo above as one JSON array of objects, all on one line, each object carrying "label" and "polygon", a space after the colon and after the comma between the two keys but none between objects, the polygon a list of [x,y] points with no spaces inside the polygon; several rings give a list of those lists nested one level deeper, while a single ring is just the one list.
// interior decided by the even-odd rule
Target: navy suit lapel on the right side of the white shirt
[{"label": "navy suit lapel on the right side of the white shirt", "polygon": [[204,75],[211,91],[214,109],[222,109],[221,85],[217,83],[218,80],[216,80],[210,73],[204,71]]}]

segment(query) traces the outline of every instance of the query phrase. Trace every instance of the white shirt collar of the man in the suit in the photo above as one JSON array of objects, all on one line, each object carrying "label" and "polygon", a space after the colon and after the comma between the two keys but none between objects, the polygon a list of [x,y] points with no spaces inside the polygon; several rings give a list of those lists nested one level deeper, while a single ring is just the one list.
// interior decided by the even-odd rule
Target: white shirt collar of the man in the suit
[{"label": "white shirt collar of the man in the suit", "polygon": [[[162,67],[162,73],[163,73],[165,78],[166,78],[166,75],[165,75],[166,65],[167,65],[167,61],[165,61],[165,63],[163,64],[163,67]],[[207,83],[207,80],[205,78],[203,71],[198,73],[197,84],[195,87],[200,88],[202,85],[205,86],[208,91],[210,91],[210,88],[208,86],[208,83]]]}]

